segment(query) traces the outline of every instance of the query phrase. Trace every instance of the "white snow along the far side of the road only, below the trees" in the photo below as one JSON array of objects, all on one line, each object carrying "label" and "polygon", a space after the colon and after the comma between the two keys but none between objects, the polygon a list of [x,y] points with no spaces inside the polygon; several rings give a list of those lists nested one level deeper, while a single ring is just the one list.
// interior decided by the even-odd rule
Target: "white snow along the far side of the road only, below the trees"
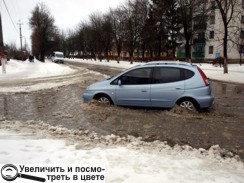
[{"label": "white snow along the far side of the road only, below the trees", "polygon": [[[81,62],[88,63],[94,65],[103,65],[108,67],[117,67],[122,69],[127,69],[133,67],[135,65],[141,64],[138,62],[133,62],[131,64],[127,61],[109,61],[103,60],[94,61],[94,60],[82,60],[82,59],[66,59],[67,62]],[[197,64],[205,74],[214,80],[219,81],[227,81],[227,82],[236,82],[236,83],[244,83],[244,64],[240,66],[239,64],[229,64],[228,65],[228,74],[223,74],[223,68],[213,66],[212,64]],[[44,77],[52,77],[52,76],[63,76],[67,74],[74,73],[76,70],[71,69],[62,64],[55,64],[50,61],[46,61],[45,63],[35,61],[31,63],[29,61],[17,61],[11,60],[7,65],[7,73],[2,73],[2,66],[0,66],[0,81],[11,81],[18,79],[33,79],[33,78],[44,78]]]}]

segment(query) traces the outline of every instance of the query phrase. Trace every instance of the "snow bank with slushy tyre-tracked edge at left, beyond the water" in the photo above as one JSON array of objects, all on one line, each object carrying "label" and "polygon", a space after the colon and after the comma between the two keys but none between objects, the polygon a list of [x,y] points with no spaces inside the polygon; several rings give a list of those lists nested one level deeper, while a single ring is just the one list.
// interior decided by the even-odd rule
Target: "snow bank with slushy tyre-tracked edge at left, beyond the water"
[{"label": "snow bank with slushy tyre-tracked edge at left, beyond the water", "polygon": [[[2,73],[0,66],[0,92],[32,92],[65,86],[87,77],[101,78],[104,75],[84,68],[72,69],[63,64],[56,64],[49,60],[45,63],[10,60],[6,65],[7,73]],[[90,79],[93,81],[92,79]]]}]

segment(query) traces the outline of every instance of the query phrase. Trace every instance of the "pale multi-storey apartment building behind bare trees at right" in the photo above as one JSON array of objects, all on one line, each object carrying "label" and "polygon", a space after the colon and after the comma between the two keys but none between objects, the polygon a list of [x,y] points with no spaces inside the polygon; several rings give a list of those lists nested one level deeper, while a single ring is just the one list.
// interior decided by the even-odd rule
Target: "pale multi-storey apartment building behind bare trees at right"
[{"label": "pale multi-storey apartment building behind bare trees at right", "polygon": [[[224,26],[214,0],[208,1],[209,13],[205,22],[194,24],[192,58],[213,60],[223,56]],[[238,0],[228,26],[228,58],[234,62],[244,57],[244,0]]]}]

